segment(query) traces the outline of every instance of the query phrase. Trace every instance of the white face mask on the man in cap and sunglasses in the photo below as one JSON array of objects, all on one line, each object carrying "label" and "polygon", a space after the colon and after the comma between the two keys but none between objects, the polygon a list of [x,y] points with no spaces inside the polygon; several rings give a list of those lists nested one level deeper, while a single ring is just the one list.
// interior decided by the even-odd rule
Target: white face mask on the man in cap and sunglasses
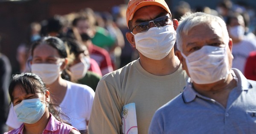
[{"label": "white face mask on the man in cap and sunglasses", "polygon": [[176,31],[172,25],[152,27],[146,32],[133,35],[137,50],[154,60],[166,57],[176,41]]}]

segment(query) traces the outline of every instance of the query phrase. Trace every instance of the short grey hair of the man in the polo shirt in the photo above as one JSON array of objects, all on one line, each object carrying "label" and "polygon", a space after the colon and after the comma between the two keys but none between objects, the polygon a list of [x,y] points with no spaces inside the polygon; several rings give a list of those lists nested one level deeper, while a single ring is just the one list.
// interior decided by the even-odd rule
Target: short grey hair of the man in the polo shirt
[{"label": "short grey hair of the man in the polo shirt", "polygon": [[223,31],[224,36],[224,43],[227,44],[229,42],[229,35],[227,32],[227,26],[224,20],[222,20],[220,17],[206,14],[203,12],[196,12],[196,13],[186,13],[184,14],[180,19],[180,24],[176,30],[177,32],[177,49],[182,52],[182,36],[181,35],[188,35],[189,30],[192,29],[195,26],[198,26],[199,24],[203,23],[211,23],[211,22],[217,22]]}]

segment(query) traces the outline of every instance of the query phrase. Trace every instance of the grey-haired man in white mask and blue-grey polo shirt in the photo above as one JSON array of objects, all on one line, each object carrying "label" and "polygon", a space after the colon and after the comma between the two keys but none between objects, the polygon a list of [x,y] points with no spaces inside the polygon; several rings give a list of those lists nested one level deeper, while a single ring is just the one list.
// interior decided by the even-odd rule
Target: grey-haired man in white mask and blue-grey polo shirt
[{"label": "grey-haired man in white mask and blue-grey polo shirt", "polygon": [[186,13],[177,48],[190,78],[182,94],[156,111],[148,134],[256,134],[256,81],[232,68],[233,41],[224,20]]}]

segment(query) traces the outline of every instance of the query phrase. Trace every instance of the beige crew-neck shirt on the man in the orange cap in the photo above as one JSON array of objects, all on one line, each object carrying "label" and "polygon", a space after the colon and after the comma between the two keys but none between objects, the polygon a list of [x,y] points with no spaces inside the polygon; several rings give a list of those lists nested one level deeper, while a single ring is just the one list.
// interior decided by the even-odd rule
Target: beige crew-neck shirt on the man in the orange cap
[{"label": "beige crew-neck shirt on the man in the orange cap", "polygon": [[135,60],[99,81],[90,115],[89,134],[121,134],[122,107],[135,103],[138,134],[148,134],[154,112],[186,86],[181,65],[172,74],[156,76]]}]

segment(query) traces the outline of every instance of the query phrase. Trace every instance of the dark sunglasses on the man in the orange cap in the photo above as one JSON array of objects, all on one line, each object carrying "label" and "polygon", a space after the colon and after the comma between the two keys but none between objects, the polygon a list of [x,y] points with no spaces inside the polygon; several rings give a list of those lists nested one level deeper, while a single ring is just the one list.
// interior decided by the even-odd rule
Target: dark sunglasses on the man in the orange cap
[{"label": "dark sunglasses on the man in the orange cap", "polygon": [[138,33],[148,31],[148,29],[150,28],[150,23],[151,22],[153,22],[154,26],[156,26],[156,27],[166,26],[169,23],[169,19],[171,20],[171,18],[169,18],[169,16],[166,15],[166,16],[158,17],[158,18],[156,18],[154,20],[151,20],[151,21],[138,23],[131,29],[131,32],[134,29],[136,29]]}]

